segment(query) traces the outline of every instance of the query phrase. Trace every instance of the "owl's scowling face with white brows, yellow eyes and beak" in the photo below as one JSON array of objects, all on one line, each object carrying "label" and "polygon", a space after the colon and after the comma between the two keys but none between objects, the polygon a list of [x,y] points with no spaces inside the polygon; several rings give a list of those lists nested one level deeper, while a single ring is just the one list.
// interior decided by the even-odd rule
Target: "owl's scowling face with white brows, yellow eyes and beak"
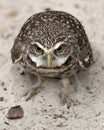
[{"label": "owl's scowling face with white brows, yellow eyes and beak", "polygon": [[[63,42],[57,43],[54,47],[47,49],[42,46],[40,43],[36,42],[35,44],[35,54],[29,53],[29,58],[37,67],[60,67],[66,62],[69,55],[64,57],[64,44]],[[36,55],[37,53],[37,55]]]}]

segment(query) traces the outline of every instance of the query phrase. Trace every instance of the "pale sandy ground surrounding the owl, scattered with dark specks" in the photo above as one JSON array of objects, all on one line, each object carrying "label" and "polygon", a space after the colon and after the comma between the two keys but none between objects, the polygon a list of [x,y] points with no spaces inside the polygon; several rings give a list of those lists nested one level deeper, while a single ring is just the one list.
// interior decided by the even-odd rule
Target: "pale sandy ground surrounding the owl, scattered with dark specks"
[{"label": "pale sandy ground surrounding the owl, scattered with dark specks", "polygon": [[[77,74],[76,92],[73,80],[70,109],[60,105],[56,79],[46,79],[43,89],[26,102],[21,96],[35,81],[11,62],[10,49],[22,24],[46,8],[80,19],[93,48],[95,64]],[[104,0],[0,0],[0,97],[0,130],[104,130]],[[16,105],[22,106],[24,117],[7,119]]]}]

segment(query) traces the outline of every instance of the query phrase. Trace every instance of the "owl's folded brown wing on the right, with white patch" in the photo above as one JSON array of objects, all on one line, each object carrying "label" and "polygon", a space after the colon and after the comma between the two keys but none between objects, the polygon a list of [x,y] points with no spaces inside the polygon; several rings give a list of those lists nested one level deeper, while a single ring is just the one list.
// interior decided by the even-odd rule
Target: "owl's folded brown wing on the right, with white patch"
[{"label": "owl's folded brown wing on the right, with white patch", "polygon": [[93,53],[90,47],[90,43],[87,43],[86,46],[82,47],[79,55],[79,66],[82,69],[87,69],[94,63],[93,61]]}]

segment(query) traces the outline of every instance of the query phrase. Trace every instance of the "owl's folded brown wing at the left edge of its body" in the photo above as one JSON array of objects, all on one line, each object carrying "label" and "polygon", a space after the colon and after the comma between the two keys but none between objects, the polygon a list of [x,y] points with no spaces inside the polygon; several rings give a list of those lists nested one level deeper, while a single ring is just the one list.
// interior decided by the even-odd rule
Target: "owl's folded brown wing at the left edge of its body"
[{"label": "owl's folded brown wing at the left edge of its body", "polygon": [[16,39],[13,48],[11,49],[11,58],[13,63],[20,63],[22,61],[23,50],[24,44],[21,44],[21,42]]}]

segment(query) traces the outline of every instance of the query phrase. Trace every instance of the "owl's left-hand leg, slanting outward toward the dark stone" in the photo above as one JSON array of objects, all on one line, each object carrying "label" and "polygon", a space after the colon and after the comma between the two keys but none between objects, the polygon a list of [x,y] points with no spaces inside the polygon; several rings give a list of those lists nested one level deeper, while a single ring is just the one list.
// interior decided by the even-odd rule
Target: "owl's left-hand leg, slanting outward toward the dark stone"
[{"label": "owl's left-hand leg, slanting outward toward the dark stone", "polygon": [[26,97],[26,101],[28,101],[29,99],[31,99],[31,97],[37,93],[37,91],[39,90],[39,88],[41,88],[41,85],[42,85],[42,83],[43,83],[43,79],[42,79],[42,77],[40,77],[40,76],[37,76],[37,79],[38,79],[38,81],[37,81],[37,83],[35,84],[35,86],[32,87],[30,90],[28,90],[27,93],[25,93],[25,94],[23,95],[23,96]]}]

